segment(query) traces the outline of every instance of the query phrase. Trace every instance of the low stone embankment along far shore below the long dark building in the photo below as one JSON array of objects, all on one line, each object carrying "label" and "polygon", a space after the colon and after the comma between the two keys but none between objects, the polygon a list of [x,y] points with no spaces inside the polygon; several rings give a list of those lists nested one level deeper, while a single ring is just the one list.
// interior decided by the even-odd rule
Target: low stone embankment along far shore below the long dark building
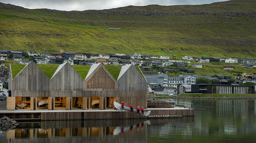
[{"label": "low stone embankment along far shore below the long dark building", "polygon": [[179,97],[172,96],[172,99],[256,99],[256,97]]}]

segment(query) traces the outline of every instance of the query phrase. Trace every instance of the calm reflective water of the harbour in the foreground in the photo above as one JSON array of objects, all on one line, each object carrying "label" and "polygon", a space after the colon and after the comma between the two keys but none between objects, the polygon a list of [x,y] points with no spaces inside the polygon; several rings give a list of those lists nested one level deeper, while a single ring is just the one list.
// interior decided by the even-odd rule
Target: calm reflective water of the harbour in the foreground
[{"label": "calm reflective water of the harbour in the foreground", "polygon": [[202,110],[177,119],[20,123],[0,132],[0,142],[256,142],[256,100],[177,101]]}]

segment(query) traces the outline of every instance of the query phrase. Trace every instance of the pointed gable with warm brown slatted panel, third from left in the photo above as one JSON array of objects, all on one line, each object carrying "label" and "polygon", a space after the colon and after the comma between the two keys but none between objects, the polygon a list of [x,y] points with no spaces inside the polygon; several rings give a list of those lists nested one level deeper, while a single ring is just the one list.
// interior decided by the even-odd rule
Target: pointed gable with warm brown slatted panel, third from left
[{"label": "pointed gable with warm brown slatted panel, third from left", "polygon": [[115,89],[116,85],[117,81],[102,63],[92,65],[84,80],[84,89]]}]

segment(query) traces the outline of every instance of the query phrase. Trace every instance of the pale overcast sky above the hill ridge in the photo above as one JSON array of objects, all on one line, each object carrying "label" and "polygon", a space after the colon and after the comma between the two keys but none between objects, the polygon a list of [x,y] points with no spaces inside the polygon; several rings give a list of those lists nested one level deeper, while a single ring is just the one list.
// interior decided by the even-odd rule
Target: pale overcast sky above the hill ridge
[{"label": "pale overcast sky above the hill ridge", "polygon": [[89,9],[110,9],[116,7],[146,6],[150,4],[158,4],[164,6],[170,5],[199,5],[209,4],[212,2],[223,2],[227,0],[0,0],[3,3],[35,9],[48,8],[63,11],[84,11]]}]

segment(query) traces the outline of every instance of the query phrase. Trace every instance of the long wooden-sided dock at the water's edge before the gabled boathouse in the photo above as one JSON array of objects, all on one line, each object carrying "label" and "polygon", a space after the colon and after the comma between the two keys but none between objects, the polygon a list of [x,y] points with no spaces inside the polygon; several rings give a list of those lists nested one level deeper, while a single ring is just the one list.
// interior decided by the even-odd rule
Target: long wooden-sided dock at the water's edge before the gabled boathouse
[{"label": "long wooden-sided dock at the water's edge before the gabled boathouse", "polygon": [[7,116],[14,120],[100,120],[100,119],[147,119],[147,118],[182,118],[195,116],[195,110],[190,108],[147,108],[150,116],[144,116],[130,111],[114,109],[93,110],[0,110],[0,118]]}]

